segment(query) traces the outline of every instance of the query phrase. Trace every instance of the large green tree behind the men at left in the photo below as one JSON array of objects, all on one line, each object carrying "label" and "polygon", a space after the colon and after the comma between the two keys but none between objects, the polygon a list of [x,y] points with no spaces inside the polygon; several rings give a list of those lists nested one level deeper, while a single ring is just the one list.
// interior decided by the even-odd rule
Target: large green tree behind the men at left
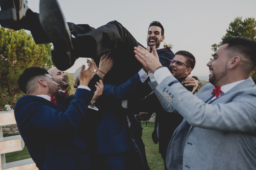
[{"label": "large green tree behind the men at left", "polygon": [[14,106],[24,94],[17,79],[24,69],[39,66],[51,68],[51,44],[36,44],[24,30],[0,28],[0,108]]}]

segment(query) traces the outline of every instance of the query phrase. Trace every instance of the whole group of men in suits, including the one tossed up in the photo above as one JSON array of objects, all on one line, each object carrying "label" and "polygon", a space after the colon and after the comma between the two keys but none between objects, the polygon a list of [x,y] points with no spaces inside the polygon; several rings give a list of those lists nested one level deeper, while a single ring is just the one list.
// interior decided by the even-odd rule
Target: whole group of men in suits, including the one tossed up
[{"label": "whole group of men in suits, including the one tossed up", "polygon": [[[26,96],[15,105],[15,119],[39,169],[149,170],[141,121],[154,112],[152,140],[165,169],[255,169],[254,40],[223,40],[201,89],[196,76],[188,77],[193,54],[160,48],[158,21],[148,27],[145,48],[117,21],[97,29],[67,23],[57,0],[41,0],[40,14],[24,0],[0,6],[17,18],[1,12],[1,26],[30,30],[37,44],[54,46],[56,67],[27,68],[18,78]],[[77,68],[70,95],[64,70],[79,57],[92,59],[87,69]]]}]

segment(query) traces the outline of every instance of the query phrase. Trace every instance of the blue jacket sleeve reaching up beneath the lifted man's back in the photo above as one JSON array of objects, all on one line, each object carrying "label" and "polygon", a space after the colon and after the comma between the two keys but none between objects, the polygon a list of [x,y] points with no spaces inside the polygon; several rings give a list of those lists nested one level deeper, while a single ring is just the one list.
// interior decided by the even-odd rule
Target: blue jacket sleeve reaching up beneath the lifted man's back
[{"label": "blue jacket sleeve reaching up beneath the lifted man's back", "polygon": [[141,86],[144,86],[144,83],[141,82],[137,73],[121,85],[104,84],[103,94],[108,97],[127,100],[130,96],[135,95],[136,89]]}]

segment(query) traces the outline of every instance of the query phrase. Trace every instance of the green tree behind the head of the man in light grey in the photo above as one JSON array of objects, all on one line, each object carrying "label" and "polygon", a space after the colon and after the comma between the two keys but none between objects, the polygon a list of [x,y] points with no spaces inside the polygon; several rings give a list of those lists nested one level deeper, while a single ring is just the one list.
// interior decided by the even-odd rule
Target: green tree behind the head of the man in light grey
[{"label": "green tree behind the head of the man in light grey", "polygon": [[[245,20],[242,20],[242,17],[237,17],[229,24],[226,32],[227,33],[221,38],[222,40],[232,36],[245,36],[256,40],[256,20],[253,17],[245,18]],[[220,47],[221,42],[219,44],[213,44],[212,51],[215,52]],[[252,76],[256,79],[255,70],[252,72]]]}]

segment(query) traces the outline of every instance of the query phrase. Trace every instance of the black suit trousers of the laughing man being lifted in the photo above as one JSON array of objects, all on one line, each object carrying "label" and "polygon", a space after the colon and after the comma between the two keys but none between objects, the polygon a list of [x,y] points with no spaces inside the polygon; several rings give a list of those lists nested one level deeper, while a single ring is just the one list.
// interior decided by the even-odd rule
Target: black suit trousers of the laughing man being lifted
[{"label": "black suit trousers of the laughing man being lifted", "polygon": [[[51,40],[40,25],[38,14],[31,10],[28,13],[30,15],[23,28],[31,31],[36,44],[50,43]],[[71,34],[75,36],[72,43],[76,58],[93,58],[98,64],[103,54],[111,52],[114,65],[105,76],[105,83],[120,85],[142,68],[133,53],[133,48],[139,43],[119,22],[111,21],[97,29],[87,24],[68,23],[68,26]]]}]

